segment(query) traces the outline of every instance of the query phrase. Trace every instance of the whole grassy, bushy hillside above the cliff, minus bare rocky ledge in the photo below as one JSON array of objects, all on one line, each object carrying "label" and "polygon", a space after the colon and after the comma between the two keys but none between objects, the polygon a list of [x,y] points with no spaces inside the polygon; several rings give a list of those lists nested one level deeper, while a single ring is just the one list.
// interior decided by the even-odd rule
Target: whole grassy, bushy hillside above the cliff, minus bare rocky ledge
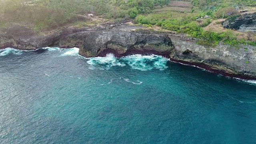
[{"label": "whole grassy, bushy hillside above the cliff, minus bare rocky ledge", "polygon": [[[256,11],[256,0],[28,1],[30,0],[2,0],[0,29],[23,25],[35,31],[53,30],[77,22],[88,23],[92,19],[87,14],[93,13],[97,18],[134,19],[139,25],[186,33],[198,38],[198,44],[208,46],[216,46],[219,42],[232,46],[238,46],[239,43],[256,45],[255,34],[220,30],[218,20],[235,18],[240,14],[237,9],[249,8]],[[209,18],[204,18],[206,15]],[[213,21],[214,24],[211,24]]]}]

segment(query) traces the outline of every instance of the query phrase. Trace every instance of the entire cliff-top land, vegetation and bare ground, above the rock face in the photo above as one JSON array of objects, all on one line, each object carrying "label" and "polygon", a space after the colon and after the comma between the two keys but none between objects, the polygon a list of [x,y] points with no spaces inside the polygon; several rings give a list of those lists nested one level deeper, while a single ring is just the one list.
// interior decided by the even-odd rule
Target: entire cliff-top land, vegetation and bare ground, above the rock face
[{"label": "entire cliff-top land, vegetation and bare ground, above the rock face", "polygon": [[[219,42],[231,46],[256,45],[255,22],[237,20],[230,24],[236,18],[253,17],[255,6],[256,2],[248,0],[5,0],[0,2],[0,30],[7,36],[26,38],[118,30],[126,25],[124,30],[140,26],[157,32],[187,34],[206,46]],[[225,19],[229,20],[228,26],[222,26]]]}]

